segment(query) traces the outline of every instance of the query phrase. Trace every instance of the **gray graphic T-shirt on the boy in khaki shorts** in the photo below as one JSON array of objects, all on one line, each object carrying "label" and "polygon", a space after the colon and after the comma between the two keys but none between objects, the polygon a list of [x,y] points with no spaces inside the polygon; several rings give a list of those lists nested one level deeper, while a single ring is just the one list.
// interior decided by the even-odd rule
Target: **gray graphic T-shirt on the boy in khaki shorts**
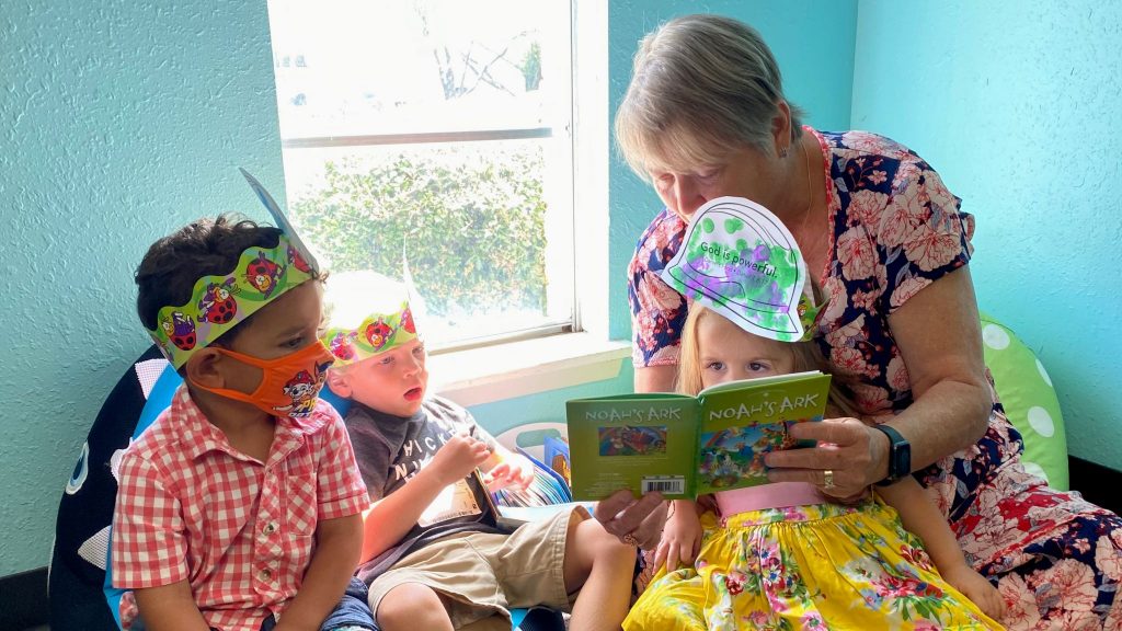
[{"label": "gray graphic T-shirt on the boy in khaki shorts", "polygon": [[[463,408],[434,396],[410,417],[394,417],[355,403],[347,413],[355,458],[362,482],[377,502],[405,485],[457,433],[484,441],[494,451],[498,443]],[[405,555],[459,532],[505,533],[496,527],[487,490],[475,476],[449,486],[421,520],[395,546],[359,566],[358,577],[369,584]]]}]

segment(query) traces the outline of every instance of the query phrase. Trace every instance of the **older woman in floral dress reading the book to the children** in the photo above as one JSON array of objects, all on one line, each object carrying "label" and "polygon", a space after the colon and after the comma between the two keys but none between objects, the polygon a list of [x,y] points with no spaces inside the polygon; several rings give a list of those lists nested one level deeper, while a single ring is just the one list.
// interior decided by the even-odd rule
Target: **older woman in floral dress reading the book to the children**
[{"label": "older woman in floral dress reading the book to the children", "polygon": [[[1122,520],[1021,466],[1021,437],[982,360],[974,218],[930,165],[874,134],[802,126],[760,35],[718,16],[643,39],[616,136],[665,203],[628,271],[636,391],[673,388],[689,303],[659,272],[690,217],[717,196],[755,200],[789,227],[828,296],[816,339],[868,421],[794,428],[828,445],[771,454],[771,478],[846,499],[914,472],[974,567],[999,580],[1006,623],[1122,627]],[[644,547],[664,513],[656,495],[626,492],[597,510]]]}]

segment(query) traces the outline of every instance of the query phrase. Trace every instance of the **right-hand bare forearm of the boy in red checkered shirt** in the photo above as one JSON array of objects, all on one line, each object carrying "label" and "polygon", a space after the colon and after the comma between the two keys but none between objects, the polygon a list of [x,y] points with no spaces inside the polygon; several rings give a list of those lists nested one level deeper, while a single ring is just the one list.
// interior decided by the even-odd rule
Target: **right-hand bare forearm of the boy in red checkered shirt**
[{"label": "right-hand bare forearm of the boy in red checkered shirt", "polygon": [[318,631],[358,566],[362,515],[323,520],[315,525],[315,554],[300,593],[284,610],[275,631]]}]

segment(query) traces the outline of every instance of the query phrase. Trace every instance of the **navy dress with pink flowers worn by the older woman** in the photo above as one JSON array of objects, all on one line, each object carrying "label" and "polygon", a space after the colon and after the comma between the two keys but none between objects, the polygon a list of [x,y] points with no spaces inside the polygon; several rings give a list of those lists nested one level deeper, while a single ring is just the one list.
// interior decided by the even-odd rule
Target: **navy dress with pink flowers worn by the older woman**
[{"label": "navy dress with pink flowers worn by the older woman", "polygon": [[[864,131],[804,128],[825,158],[829,256],[817,341],[831,372],[874,419],[912,401],[911,382],[888,317],[909,298],[963,267],[974,218],[926,162]],[[659,272],[681,246],[686,225],[663,210],[638,241],[628,268],[637,367],[678,363],[688,309]],[[996,397],[995,397],[996,401]],[[1011,629],[1122,629],[1122,520],[1024,470],[1020,433],[994,403],[977,443],[917,477],[948,515],[967,560],[996,580]],[[1120,600],[1122,602],[1122,600]]]}]

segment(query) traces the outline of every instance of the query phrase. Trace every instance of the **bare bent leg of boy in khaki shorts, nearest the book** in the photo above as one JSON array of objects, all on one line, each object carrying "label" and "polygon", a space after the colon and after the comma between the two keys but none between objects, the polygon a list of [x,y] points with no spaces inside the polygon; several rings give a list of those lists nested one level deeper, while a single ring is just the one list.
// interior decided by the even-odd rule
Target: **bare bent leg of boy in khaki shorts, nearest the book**
[{"label": "bare bent leg of boy in khaki shorts, nearest the book", "polygon": [[565,537],[564,586],[580,589],[572,606],[571,629],[618,631],[631,604],[635,548],[620,543],[596,520],[569,527]]}]

